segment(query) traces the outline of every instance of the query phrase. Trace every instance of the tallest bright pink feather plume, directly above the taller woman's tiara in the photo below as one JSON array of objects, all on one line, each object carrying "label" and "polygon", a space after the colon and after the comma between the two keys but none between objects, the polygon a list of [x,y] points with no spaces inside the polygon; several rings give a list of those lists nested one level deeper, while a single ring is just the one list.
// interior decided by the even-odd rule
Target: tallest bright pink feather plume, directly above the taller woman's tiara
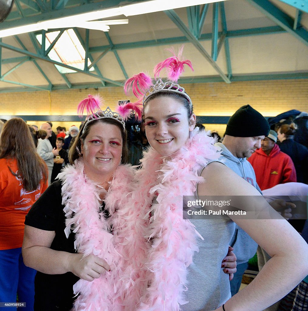
[{"label": "tallest bright pink feather plume, directly above the taller woman's tiara", "polygon": [[174,49],[168,49],[170,52],[173,53],[174,56],[167,58],[161,63],[158,63],[154,68],[154,77],[158,77],[159,73],[163,68],[167,68],[168,71],[168,79],[171,81],[177,82],[182,72],[184,72],[184,65],[190,67],[192,71],[194,68],[190,62],[190,60],[182,60],[182,53],[183,53],[184,45],[181,46],[178,56],[175,55]]}]

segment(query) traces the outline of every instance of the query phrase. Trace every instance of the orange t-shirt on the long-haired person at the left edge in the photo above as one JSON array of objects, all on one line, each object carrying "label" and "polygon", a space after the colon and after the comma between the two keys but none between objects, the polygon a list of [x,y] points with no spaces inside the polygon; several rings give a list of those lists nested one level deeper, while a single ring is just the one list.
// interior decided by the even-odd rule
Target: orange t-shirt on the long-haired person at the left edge
[{"label": "orange t-shirt on the long-haired person at the left edge", "polygon": [[48,185],[41,179],[35,191],[27,192],[8,166],[16,173],[16,159],[0,159],[0,250],[21,247],[25,217]]}]

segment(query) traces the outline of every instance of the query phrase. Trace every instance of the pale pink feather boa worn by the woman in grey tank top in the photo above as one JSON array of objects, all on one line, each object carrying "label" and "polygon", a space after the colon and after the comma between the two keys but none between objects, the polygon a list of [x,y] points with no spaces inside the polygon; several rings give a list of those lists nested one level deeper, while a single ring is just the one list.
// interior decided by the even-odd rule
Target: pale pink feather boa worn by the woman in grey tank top
[{"label": "pale pink feather boa worn by the woman in grey tank top", "polygon": [[[198,252],[196,238],[200,235],[189,220],[183,220],[183,195],[194,195],[197,184],[204,182],[198,172],[208,159],[220,156],[213,146],[214,138],[208,134],[195,130],[171,160],[150,149],[136,173],[140,186],[132,193],[133,206],[144,208],[141,219],[147,223],[145,238],[152,239],[147,258],[142,258],[149,287],[140,298],[138,311],[178,311],[187,303],[187,267]],[[157,204],[152,205],[155,193]]]}]

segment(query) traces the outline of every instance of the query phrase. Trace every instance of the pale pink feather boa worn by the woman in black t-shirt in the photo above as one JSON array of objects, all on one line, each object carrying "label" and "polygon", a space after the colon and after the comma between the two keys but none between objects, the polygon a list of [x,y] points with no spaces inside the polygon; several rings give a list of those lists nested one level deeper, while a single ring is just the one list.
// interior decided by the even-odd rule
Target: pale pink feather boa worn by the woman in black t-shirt
[{"label": "pale pink feather boa worn by the woman in black t-shirt", "polygon": [[74,310],[131,311],[147,288],[143,272],[138,273],[143,265],[139,258],[142,253],[145,257],[147,249],[142,236],[145,229],[135,224],[140,209],[126,204],[128,194],[133,190],[133,177],[134,169],[129,165],[116,169],[105,198],[105,208],[111,216],[105,220],[98,213],[100,190],[86,178],[82,158],[59,175],[63,182],[67,237],[71,231],[75,232],[76,250],[84,256],[94,254],[103,258],[111,268],[92,282],[77,281],[74,293],[79,295]]}]

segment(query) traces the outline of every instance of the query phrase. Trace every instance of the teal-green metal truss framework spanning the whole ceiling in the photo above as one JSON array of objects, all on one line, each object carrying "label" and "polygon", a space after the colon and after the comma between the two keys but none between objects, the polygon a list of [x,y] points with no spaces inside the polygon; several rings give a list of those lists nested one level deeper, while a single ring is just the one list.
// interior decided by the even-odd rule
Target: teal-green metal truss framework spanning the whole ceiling
[{"label": "teal-green metal truss framework spanning the whole ceiling", "polygon": [[[128,0],[127,2],[144,2],[146,0]],[[108,32],[105,32],[106,38],[109,42],[105,46],[92,46],[89,47],[90,39],[90,30],[86,30],[86,36],[83,39],[80,35],[77,28],[74,28],[74,31],[80,40],[82,46],[86,51],[86,60],[90,59],[91,64],[88,65],[85,61],[84,69],[78,69],[72,66],[68,66],[56,61],[51,60],[48,57],[48,53],[54,47],[54,44],[58,41],[60,36],[63,34],[65,29],[58,29],[60,33],[56,39],[51,43],[48,49],[45,48],[45,42],[42,40],[42,45],[40,45],[35,37],[36,34],[41,33],[44,38],[46,31],[42,30],[40,32],[29,33],[30,40],[35,48],[36,53],[28,51],[18,36],[15,36],[17,42],[20,44],[21,48],[6,44],[0,38],[0,81],[12,83],[19,85],[21,87],[6,88],[0,89],[0,92],[19,92],[19,91],[31,91],[31,90],[60,90],[67,88],[101,88],[104,86],[122,86],[123,81],[113,81],[106,77],[103,77],[97,64],[98,62],[109,52],[114,53],[119,67],[121,68],[125,79],[128,78],[127,72],[125,70],[124,64],[122,63],[118,51],[134,48],[143,48],[146,46],[158,46],[158,45],[170,45],[170,44],[182,44],[186,42],[192,43],[200,54],[207,59],[207,61],[212,65],[212,67],[217,71],[218,75],[213,77],[198,77],[198,78],[185,78],[180,79],[181,83],[198,83],[198,82],[215,82],[215,81],[225,81],[230,83],[232,81],[246,81],[246,80],[271,80],[271,79],[306,79],[308,75],[306,72],[303,73],[290,73],[290,74],[265,74],[265,75],[232,75],[231,67],[231,57],[228,40],[233,37],[241,36],[250,36],[250,35],[265,35],[265,34],[277,34],[288,32],[296,39],[300,40],[305,45],[308,45],[308,32],[301,26],[301,16],[303,12],[307,12],[307,0],[299,0],[294,2],[293,0],[281,0],[285,3],[296,8],[296,16],[292,18],[286,13],[282,12],[278,7],[273,5],[268,0],[247,0],[251,5],[260,10],[265,14],[269,19],[275,22],[277,26],[272,27],[259,27],[252,29],[239,29],[239,30],[227,30],[226,23],[226,13],[224,9],[224,2],[213,3],[213,4],[204,4],[200,6],[187,7],[187,17],[188,17],[188,26],[180,19],[180,17],[175,13],[174,10],[165,11],[166,15],[178,26],[178,28],[183,32],[184,36],[182,37],[173,37],[173,38],[164,38],[157,40],[147,40],[147,41],[138,41],[138,42],[129,42],[124,44],[113,44],[112,39]],[[73,14],[91,12],[95,10],[101,10],[110,7],[117,7],[122,2],[122,0],[101,0],[101,1],[79,1],[79,0],[15,0],[17,7],[16,11],[13,11],[9,14],[6,21],[0,24],[0,30],[22,26],[25,24],[30,24],[38,21],[43,21],[46,19],[59,18],[70,16]],[[294,2],[294,3],[293,3]],[[212,16],[212,33],[202,34],[204,21],[207,17],[209,6],[213,7],[213,16]],[[222,31],[218,31],[219,17],[221,21]],[[53,30],[55,31],[55,30]],[[211,54],[208,53],[200,43],[204,40],[211,40],[212,42],[212,51]],[[225,58],[226,58],[226,67],[227,74],[222,71],[222,69],[217,65],[217,57],[224,46],[225,49]],[[23,54],[21,57],[13,57],[2,59],[2,48],[15,51],[17,53]],[[92,57],[92,53],[100,53],[95,59]],[[65,81],[66,85],[56,86],[51,83],[46,72],[38,65],[36,60],[44,60],[49,63],[57,64],[62,67],[66,67],[77,72],[89,75],[91,77],[97,78],[99,81],[94,83],[86,84],[76,84],[73,85],[68,77],[60,73],[61,77]],[[11,72],[20,67],[23,63],[31,61],[35,64],[37,69],[43,75],[44,79],[47,81],[48,85],[44,86],[32,86],[23,84],[16,81],[9,81],[5,79]],[[3,64],[13,64],[13,67],[2,74],[1,67]],[[90,72],[90,68],[94,67],[95,73]]]}]

